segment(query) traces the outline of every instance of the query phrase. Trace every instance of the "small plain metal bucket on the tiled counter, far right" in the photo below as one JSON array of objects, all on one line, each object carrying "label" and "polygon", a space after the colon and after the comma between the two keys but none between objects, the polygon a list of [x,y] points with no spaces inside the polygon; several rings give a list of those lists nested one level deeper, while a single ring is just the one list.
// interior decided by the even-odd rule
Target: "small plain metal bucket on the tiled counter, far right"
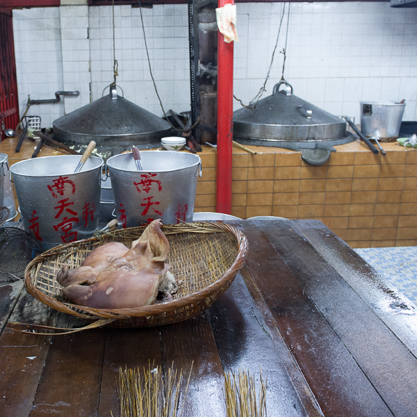
[{"label": "small plain metal bucket on the tiled counter, far right", "polygon": [[361,101],[361,131],[368,138],[393,142],[398,138],[405,103]]}]

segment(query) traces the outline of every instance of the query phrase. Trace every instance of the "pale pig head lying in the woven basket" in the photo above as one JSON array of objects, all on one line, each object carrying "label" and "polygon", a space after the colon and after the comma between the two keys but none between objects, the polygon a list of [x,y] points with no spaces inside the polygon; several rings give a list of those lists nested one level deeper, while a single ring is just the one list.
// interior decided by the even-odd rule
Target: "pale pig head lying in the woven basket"
[{"label": "pale pig head lying in the woven basket", "polygon": [[74,304],[96,309],[146,306],[155,302],[159,281],[170,268],[165,263],[169,252],[161,220],[154,220],[131,249],[106,243],[92,250],[79,268],[63,266],[56,279]]}]

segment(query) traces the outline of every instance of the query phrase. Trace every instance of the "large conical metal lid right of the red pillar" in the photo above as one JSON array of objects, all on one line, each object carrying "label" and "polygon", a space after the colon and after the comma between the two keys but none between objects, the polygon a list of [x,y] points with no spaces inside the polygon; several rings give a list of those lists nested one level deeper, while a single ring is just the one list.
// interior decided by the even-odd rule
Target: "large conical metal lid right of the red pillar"
[{"label": "large conical metal lid right of the red pillar", "polygon": [[[281,85],[284,90],[279,90]],[[302,142],[337,140],[349,136],[346,122],[293,95],[293,87],[281,81],[272,95],[256,108],[234,112],[234,136],[252,140]]]}]

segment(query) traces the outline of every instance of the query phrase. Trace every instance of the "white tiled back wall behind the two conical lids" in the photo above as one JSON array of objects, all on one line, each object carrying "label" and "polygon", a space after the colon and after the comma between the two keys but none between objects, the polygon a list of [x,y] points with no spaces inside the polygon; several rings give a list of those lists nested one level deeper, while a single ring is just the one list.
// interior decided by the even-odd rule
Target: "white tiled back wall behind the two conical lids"
[{"label": "white tiled back wall behind the two conical lids", "polygon": [[[268,73],[283,3],[238,3],[234,94],[245,103]],[[287,30],[284,15],[263,97],[281,78]],[[165,111],[188,111],[190,102],[187,6],[142,9],[152,72]],[[65,104],[33,106],[42,125],[108,94],[113,81],[111,6],[13,10],[21,113],[31,99],[79,90]],[[140,9],[115,6],[117,85],[124,97],[163,115],[154,90]],[[382,2],[291,3],[284,76],[295,95],[334,115],[359,121],[359,101],[406,99],[403,120],[417,120],[417,8]],[[120,94],[122,92],[120,91]],[[240,107],[235,101],[234,108]]]}]

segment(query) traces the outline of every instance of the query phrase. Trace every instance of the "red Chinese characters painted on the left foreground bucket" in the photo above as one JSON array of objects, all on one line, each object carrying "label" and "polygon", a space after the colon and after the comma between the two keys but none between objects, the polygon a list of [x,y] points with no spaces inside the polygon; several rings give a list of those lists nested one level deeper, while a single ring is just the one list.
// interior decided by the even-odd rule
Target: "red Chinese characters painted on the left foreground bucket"
[{"label": "red Chinese characters painted on the left foreground bucket", "polygon": [[[48,190],[52,197],[56,199],[56,205],[54,210],[56,211],[54,220],[52,221],[52,227],[55,231],[58,231],[63,243],[70,243],[77,240],[78,231],[73,227],[80,222],[86,228],[88,222],[94,221],[95,204],[85,202],[83,211],[81,213],[81,219],[79,213],[74,210],[74,201],[72,201],[73,195],[76,191],[76,187],[73,181],[68,177],[58,177],[52,180],[52,184],[48,185]],[[39,234],[39,217],[36,215],[36,211],[33,210],[32,218],[29,220],[31,226],[29,229],[35,234],[35,238],[42,240]],[[55,224],[54,224],[55,223]]]}]

